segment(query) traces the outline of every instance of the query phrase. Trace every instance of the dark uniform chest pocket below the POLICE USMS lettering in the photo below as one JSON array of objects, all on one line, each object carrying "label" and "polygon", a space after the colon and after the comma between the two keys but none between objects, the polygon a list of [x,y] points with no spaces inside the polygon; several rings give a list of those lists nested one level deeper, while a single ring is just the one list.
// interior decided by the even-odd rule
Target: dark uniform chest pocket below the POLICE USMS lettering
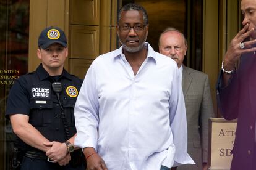
[{"label": "dark uniform chest pocket below the POLICE USMS lettering", "polygon": [[51,100],[30,100],[29,122],[32,126],[48,126],[53,120],[54,111]]}]

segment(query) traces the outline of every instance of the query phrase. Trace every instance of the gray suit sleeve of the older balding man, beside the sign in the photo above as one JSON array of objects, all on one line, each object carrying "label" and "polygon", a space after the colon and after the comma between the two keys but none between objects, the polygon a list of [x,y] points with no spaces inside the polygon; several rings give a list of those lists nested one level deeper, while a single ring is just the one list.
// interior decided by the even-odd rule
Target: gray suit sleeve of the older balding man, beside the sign
[{"label": "gray suit sleeve of the older balding man, beside the sign", "polygon": [[214,117],[213,102],[211,99],[210,83],[208,76],[205,78],[205,87],[203,89],[203,100],[200,108],[200,126],[202,129],[202,159],[207,163],[208,150],[208,118]]}]

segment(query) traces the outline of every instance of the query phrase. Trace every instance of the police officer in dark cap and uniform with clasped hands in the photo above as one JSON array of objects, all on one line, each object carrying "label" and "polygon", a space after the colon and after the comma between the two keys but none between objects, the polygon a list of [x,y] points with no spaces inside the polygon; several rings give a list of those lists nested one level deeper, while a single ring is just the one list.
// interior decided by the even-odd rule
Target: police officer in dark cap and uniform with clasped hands
[{"label": "police officer in dark cap and uniform with clasped hands", "polygon": [[[38,38],[36,71],[20,76],[9,92],[6,118],[25,146],[21,169],[85,169],[74,147],[74,105],[82,81],[64,70],[67,40],[58,27]],[[78,152],[77,152],[78,151]],[[72,161],[74,160],[74,161]]]}]

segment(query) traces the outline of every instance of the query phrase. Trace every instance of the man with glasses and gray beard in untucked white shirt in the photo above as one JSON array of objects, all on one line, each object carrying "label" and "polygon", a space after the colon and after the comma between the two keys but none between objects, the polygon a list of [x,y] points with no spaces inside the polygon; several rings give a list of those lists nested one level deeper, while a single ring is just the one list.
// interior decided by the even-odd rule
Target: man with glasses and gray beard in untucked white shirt
[{"label": "man with glasses and gray beard in untucked white shirt", "polygon": [[75,145],[88,169],[155,170],[194,163],[179,70],[146,41],[148,16],[127,4],[118,14],[122,46],[90,66],[75,104]]}]

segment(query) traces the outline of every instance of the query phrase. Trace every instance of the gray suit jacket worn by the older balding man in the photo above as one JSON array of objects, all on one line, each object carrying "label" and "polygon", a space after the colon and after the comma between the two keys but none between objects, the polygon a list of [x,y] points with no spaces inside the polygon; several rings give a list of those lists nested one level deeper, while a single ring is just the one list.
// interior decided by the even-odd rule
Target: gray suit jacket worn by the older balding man
[{"label": "gray suit jacket worn by the older balding man", "polygon": [[183,65],[182,89],[187,113],[187,152],[196,164],[177,169],[198,170],[202,169],[202,161],[207,162],[208,118],[214,116],[208,76]]}]

